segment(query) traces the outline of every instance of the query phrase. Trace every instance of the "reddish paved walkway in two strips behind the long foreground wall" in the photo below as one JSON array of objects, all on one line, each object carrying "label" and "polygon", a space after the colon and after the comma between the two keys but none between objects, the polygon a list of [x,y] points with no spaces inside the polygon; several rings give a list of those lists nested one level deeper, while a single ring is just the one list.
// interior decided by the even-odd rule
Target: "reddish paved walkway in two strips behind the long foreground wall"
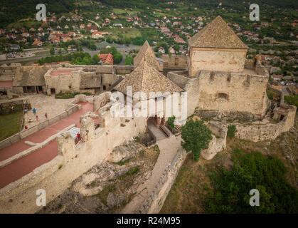
[{"label": "reddish paved walkway in two strips behind the long foreground wall", "polygon": [[[29,135],[21,141],[5,147],[0,150],[0,160],[6,160],[7,158],[28,149],[30,146],[25,144],[25,141],[31,142],[43,142],[51,135],[55,135],[60,130],[68,127],[71,124],[76,124],[77,128],[80,128],[80,116],[93,110],[92,103],[78,103],[82,105],[82,109],[69,115],[63,120],[59,120],[57,123],[44,128],[43,130]],[[20,159],[11,162],[11,164],[0,168],[0,188],[8,185],[11,182],[18,180],[19,178],[32,172],[36,167],[43,165],[58,155],[58,145],[54,140],[45,147],[38,149],[31,154],[21,157]]]}]

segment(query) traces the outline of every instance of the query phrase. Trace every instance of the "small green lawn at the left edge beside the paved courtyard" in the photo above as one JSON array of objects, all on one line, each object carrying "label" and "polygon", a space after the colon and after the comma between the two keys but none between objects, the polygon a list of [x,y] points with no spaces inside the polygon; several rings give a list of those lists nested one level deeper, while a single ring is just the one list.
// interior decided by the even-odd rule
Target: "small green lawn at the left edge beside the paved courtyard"
[{"label": "small green lawn at the left edge beside the paved courtyard", "polygon": [[0,115],[0,141],[9,138],[20,131],[23,111]]}]

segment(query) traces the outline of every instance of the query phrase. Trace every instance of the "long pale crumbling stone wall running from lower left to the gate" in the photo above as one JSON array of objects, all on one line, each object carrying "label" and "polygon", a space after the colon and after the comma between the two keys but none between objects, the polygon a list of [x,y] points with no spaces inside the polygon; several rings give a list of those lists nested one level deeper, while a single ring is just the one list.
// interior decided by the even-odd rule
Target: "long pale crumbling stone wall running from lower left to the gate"
[{"label": "long pale crumbling stone wall running from lower left to the gate", "polygon": [[46,190],[46,200],[50,202],[73,180],[104,161],[114,147],[131,140],[137,133],[143,133],[147,127],[146,118],[132,118],[126,122],[122,118],[113,118],[107,110],[100,109],[99,113],[108,119],[109,125],[95,130],[93,120],[83,118],[80,131],[84,142],[75,145],[70,133],[62,133],[56,138],[57,157],[0,190],[0,213],[38,211],[41,207],[36,206],[36,190]]}]

